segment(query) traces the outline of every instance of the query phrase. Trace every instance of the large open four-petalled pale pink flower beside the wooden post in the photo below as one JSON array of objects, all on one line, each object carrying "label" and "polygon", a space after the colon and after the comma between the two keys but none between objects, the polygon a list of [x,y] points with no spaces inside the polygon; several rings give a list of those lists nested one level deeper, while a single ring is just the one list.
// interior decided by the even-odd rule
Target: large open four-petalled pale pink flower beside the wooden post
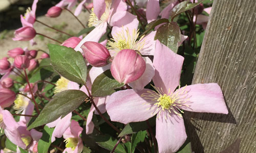
[{"label": "large open four-petalled pale pink flower beside the wooden post", "polygon": [[227,114],[221,88],[216,83],[179,85],[184,58],[156,42],[153,64],[155,90],[127,89],[113,93],[106,101],[112,121],[124,124],[144,121],[157,114],[156,138],[159,152],[175,152],[186,140],[182,110]]}]

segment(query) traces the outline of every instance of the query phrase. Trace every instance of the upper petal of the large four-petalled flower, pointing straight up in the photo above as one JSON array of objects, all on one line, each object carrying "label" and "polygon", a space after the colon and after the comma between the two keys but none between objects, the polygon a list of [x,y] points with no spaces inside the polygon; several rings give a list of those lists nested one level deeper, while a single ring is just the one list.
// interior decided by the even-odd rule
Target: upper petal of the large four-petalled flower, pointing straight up
[{"label": "upper petal of the large four-petalled flower, pointing straight up", "polygon": [[163,93],[173,92],[180,84],[180,74],[184,58],[167,46],[156,41],[154,56],[155,76],[153,82],[156,87],[162,88]]}]

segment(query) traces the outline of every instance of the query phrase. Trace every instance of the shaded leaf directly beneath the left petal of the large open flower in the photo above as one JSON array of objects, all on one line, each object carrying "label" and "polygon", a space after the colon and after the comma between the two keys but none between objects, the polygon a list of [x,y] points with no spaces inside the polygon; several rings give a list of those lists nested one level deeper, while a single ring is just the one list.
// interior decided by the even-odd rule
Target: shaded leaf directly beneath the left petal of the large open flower
[{"label": "shaded leaf directly beneath the left petal of the large open flower", "polygon": [[[156,124],[156,117],[148,119],[148,122],[150,123],[151,126],[154,126]],[[146,129],[148,129],[146,121],[128,123],[124,126],[123,130],[118,135],[118,137],[133,134],[139,131],[144,131]]]}]

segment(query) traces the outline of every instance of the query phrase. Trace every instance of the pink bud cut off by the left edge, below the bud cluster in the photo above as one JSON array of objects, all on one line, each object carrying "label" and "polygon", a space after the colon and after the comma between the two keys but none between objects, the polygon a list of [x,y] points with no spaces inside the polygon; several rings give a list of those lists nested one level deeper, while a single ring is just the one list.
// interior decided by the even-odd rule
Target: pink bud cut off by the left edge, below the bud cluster
[{"label": "pink bud cut off by the left edge, below the bud cluster", "polygon": [[0,106],[2,108],[11,106],[15,99],[15,92],[10,89],[0,88]]}]

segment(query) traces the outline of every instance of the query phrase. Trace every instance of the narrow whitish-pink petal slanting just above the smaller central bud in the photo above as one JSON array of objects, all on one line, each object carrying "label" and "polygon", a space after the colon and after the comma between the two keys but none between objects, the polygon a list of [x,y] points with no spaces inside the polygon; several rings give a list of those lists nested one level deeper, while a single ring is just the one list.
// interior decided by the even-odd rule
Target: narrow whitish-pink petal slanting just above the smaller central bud
[{"label": "narrow whitish-pink petal slanting just above the smaller central bud", "polygon": [[86,37],[84,37],[74,49],[83,53],[81,49],[82,44],[86,41],[98,42],[99,39],[106,33],[107,25],[108,23],[106,22],[99,24],[98,27],[94,28],[94,30],[92,30]]}]

